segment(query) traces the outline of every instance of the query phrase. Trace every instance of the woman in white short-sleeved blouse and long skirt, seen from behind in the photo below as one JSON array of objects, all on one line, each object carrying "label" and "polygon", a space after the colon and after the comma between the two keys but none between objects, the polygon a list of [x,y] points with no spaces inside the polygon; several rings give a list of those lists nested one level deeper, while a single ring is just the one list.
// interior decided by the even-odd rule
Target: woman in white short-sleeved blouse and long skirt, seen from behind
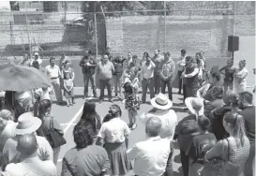
[{"label": "woman in white short-sleeved blouse and long skirt, seen from behind", "polygon": [[112,174],[126,175],[130,169],[128,162],[128,134],[130,130],[125,121],[121,120],[122,111],[116,104],[111,105],[109,113],[112,115],[101,125],[98,132],[97,144],[104,140],[104,148],[109,154]]}]

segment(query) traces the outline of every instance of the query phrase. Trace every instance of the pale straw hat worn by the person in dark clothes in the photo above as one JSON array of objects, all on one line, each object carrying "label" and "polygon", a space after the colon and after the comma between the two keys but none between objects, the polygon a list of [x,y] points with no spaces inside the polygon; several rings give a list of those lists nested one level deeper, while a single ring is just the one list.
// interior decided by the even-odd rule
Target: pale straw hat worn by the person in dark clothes
[{"label": "pale straw hat worn by the person in dark clothes", "polygon": [[187,97],[185,99],[185,104],[188,110],[196,115],[196,110],[199,111],[199,116],[203,115],[203,98],[200,97]]}]

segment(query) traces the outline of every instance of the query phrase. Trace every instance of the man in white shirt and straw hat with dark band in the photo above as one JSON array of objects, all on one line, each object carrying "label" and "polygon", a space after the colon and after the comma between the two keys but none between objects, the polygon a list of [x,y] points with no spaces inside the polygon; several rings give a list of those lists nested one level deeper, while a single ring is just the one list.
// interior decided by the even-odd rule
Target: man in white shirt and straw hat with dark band
[{"label": "man in white shirt and straw hat with dark band", "polygon": [[173,106],[172,101],[167,95],[159,93],[156,97],[151,99],[151,105],[153,109],[143,113],[140,117],[141,121],[145,124],[150,117],[158,117],[162,122],[159,133],[161,139],[173,139],[177,115],[174,110],[170,110]]}]

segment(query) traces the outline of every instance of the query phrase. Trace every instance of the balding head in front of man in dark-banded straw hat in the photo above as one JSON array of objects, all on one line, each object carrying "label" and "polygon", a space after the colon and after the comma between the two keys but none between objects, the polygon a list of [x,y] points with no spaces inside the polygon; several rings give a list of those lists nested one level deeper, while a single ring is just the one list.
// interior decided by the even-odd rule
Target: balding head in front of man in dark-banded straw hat
[{"label": "balding head in front of man in dark-banded straw hat", "polygon": [[157,137],[161,127],[162,122],[158,117],[150,117],[145,124],[145,133],[148,137]]}]

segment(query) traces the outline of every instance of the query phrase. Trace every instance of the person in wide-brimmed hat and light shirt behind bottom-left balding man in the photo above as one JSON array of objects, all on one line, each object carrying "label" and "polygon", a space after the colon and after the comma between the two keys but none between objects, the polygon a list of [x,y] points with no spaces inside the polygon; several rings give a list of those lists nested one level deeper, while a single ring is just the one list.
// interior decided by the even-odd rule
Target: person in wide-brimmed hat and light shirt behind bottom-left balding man
[{"label": "person in wide-brimmed hat and light shirt behind bottom-left balding man", "polygon": [[[36,131],[41,124],[41,120],[34,117],[31,112],[25,112],[20,115],[18,118],[18,125],[13,129],[16,136],[13,139],[8,139],[3,149],[3,154],[8,159],[8,163],[17,162],[17,155],[20,154],[16,148],[18,145],[18,139],[25,134],[34,134],[36,136]],[[39,158],[41,160],[53,161],[53,149],[48,140],[39,136],[36,136],[36,139],[38,141]]]}]

